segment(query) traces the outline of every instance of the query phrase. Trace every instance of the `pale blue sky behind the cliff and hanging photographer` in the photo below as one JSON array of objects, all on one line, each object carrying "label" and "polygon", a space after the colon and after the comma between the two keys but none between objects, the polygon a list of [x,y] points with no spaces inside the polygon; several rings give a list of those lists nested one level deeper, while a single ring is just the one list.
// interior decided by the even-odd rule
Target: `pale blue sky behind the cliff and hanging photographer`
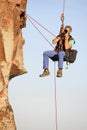
[{"label": "pale blue sky behind the cliff and hanging photographer", "polygon": [[[27,14],[58,34],[63,0],[29,0]],[[77,59],[68,70],[64,63],[63,77],[56,78],[59,130],[87,130],[87,1],[66,0],[65,25],[73,28],[78,50]],[[54,38],[40,28],[51,42]],[[55,130],[54,63],[50,61],[49,77],[40,78],[43,52],[52,47],[27,20],[24,65],[28,73],[11,80],[9,101],[13,107],[17,130]],[[57,63],[56,63],[57,70]]]}]

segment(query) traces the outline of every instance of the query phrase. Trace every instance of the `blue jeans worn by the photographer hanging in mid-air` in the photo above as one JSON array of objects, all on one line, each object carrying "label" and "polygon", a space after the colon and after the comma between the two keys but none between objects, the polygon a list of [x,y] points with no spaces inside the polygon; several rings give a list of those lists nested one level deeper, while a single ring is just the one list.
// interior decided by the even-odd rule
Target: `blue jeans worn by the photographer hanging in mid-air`
[{"label": "blue jeans worn by the photographer hanging in mid-air", "polygon": [[49,68],[49,58],[53,57],[54,55],[58,55],[58,58],[59,58],[58,68],[59,69],[63,68],[63,61],[64,61],[65,52],[64,51],[56,52],[54,50],[50,50],[50,51],[45,51],[43,53],[43,68],[44,69]]}]

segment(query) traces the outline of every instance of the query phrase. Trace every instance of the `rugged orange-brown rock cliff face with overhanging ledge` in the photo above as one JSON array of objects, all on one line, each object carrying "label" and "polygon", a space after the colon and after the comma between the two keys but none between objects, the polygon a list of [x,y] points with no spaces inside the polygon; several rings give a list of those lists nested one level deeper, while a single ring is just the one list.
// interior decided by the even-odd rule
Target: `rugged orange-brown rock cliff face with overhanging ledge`
[{"label": "rugged orange-brown rock cliff face with overhanging ledge", "polygon": [[22,50],[26,3],[27,0],[0,0],[0,130],[16,130],[8,83],[11,78],[27,72]]}]

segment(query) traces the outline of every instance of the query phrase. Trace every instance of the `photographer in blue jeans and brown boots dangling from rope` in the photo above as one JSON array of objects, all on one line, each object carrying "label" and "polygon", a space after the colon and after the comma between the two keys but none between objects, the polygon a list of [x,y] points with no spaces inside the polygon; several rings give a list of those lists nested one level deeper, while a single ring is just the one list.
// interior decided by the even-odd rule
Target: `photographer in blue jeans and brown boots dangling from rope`
[{"label": "photographer in blue jeans and brown boots dangling from rope", "polygon": [[56,47],[54,50],[45,51],[43,53],[43,69],[44,72],[40,74],[40,77],[45,77],[50,75],[49,72],[49,58],[57,55],[58,56],[58,71],[57,71],[57,77],[62,77],[62,70],[63,70],[63,61],[65,55],[68,57],[68,51],[72,48],[74,44],[74,39],[70,35],[72,32],[72,27],[67,25],[62,26],[62,29],[60,29],[59,35],[53,39],[52,43],[56,44]]}]

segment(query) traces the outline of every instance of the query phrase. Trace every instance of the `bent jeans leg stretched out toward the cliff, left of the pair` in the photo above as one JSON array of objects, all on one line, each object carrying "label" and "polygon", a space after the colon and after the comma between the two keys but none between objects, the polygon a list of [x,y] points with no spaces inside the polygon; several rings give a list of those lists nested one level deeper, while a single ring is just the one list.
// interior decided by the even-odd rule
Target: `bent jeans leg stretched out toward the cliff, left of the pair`
[{"label": "bent jeans leg stretched out toward the cliff, left of the pair", "polygon": [[54,50],[50,50],[50,51],[45,51],[43,53],[43,68],[49,68],[49,58],[53,57],[54,55],[56,55],[57,52]]}]

